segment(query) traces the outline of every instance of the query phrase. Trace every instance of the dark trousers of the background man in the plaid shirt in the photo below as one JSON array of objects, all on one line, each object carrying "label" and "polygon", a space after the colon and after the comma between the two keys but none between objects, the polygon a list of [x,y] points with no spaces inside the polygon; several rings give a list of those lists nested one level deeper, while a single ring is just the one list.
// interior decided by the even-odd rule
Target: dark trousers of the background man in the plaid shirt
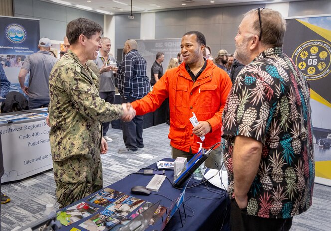
[{"label": "dark trousers of the background man in the plaid shirt", "polygon": [[[125,99],[121,95],[121,103],[132,103],[135,100],[130,96]],[[122,121],[123,141],[127,148],[135,151],[144,147],[143,122],[143,116],[135,116],[130,122]]]}]

